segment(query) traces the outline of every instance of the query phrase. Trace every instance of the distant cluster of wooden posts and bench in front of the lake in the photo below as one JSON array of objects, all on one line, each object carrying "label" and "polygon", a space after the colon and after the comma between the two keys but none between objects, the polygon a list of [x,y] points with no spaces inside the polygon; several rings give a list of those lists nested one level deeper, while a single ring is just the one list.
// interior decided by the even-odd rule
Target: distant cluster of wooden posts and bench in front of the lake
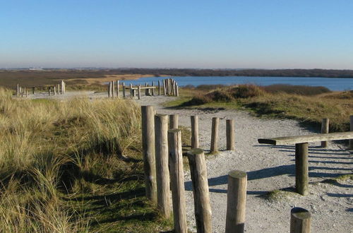
[{"label": "distant cluster of wooden posts and bench in front of the lake", "polygon": [[[163,83],[163,85],[162,85]],[[152,82],[151,85],[145,83],[145,86],[137,85],[134,87],[131,83],[130,85],[126,86],[125,83],[121,83],[120,81],[110,81],[108,85],[108,97],[120,97],[120,86],[122,90],[122,97],[126,97],[126,90],[130,90],[130,97],[138,97],[138,100],[141,98],[141,90],[145,90],[146,96],[153,96],[155,95],[155,91],[158,90],[158,95],[170,95],[170,96],[179,96],[179,85],[178,83],[172,79],[167,78],[164,80],[158,80],[158,85],[155,86],[155,82]],[[162,93],[163,89],[163,93]],[[137,92],[137,93],[136,93]],[[157,95],[157,93],[156,93]]]}]

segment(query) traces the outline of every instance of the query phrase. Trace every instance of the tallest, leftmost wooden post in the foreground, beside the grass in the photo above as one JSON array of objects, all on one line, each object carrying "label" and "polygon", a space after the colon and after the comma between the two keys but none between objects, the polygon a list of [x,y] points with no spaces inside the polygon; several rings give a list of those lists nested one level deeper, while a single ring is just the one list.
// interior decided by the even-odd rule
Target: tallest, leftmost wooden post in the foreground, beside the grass
[{"label": "tallest, leftmost wooden post in the foreground, beside the grass", "polygon": [[141,119],[146,196],[152,203],[157,203],[157,183],[155,179],[155,110],[153,106],[141,106]]}]

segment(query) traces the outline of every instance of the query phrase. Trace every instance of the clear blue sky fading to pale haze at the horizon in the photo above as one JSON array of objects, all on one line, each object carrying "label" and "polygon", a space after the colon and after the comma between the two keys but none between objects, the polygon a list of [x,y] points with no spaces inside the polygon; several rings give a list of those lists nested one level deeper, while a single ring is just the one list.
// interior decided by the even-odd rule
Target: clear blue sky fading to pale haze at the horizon
[{"label": "clear blue sky fading to pale haze at the horizon", "polygon": [[0,68],[353,69],[352,0],[0,0]]}]

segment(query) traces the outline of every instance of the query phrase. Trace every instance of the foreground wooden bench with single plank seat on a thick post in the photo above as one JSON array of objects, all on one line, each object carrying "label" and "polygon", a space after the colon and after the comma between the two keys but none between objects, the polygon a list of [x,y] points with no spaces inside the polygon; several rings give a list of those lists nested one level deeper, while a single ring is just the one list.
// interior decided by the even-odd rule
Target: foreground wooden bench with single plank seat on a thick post
[{"label": "foreground wooden bench with single plank seat on a thick post", "polygon": [[280,138],[260,138],[258,139],[258,143],[270,145],[295,144],[295,187],[297,193],[307,195],[309,184],[308,143],[347,139],[353,139],[352,131],[342,133],[318,133],[306,136]]}]

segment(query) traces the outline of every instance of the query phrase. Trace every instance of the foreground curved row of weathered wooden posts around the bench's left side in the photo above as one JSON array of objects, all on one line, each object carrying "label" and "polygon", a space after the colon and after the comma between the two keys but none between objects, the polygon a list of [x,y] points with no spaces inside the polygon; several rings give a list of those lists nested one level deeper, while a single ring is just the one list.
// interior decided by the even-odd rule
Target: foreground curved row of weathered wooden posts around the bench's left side
[{"label": "foreground curved row of weathered wooden posts around the bench's left side", "polygon": [[[157,205],[163,217],[173,212],[174,232],[188,232],[184,193],[183,151],[178,115],[156,114],[152,106],[142,106],[142,141],[146,196]],[[169,122],[169,126],[168,126]],[[219,119],[213,119],[211,151],[217,151]],[[212,211],[208,189],[205,155],[198,144],[198,117],[191,117],[191,150],[189,159],[193,186],[197,232],[212,232]],[[212,140],[211,140],[212,141]],[[234,121],[227,120],[227,149],[234,150]],[[227,217],[225,232],[244,232],[247,174],[228,174]],[[172,191],[172,210],[170,200]],[[310,232],[311,215],[307,210],[293,208],[291,232]]]}]

